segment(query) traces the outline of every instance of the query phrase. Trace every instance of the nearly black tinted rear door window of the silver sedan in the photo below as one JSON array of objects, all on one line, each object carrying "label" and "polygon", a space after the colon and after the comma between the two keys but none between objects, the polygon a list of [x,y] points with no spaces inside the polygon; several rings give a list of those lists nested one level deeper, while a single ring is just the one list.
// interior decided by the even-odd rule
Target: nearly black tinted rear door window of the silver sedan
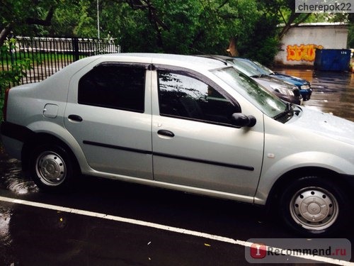
[{"label": "nearly black tinted rear door window of the silver sedan", "polygon": [[81,77],[79,104],[144,112],[143,67],[99,65]]}]

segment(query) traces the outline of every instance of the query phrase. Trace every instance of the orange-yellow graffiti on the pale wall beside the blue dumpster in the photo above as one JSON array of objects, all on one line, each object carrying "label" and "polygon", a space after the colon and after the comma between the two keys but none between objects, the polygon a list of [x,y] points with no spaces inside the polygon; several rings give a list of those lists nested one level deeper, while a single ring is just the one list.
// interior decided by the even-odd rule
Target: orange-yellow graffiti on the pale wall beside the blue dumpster
[{"label": "orange-yellow graffiti on the pale wall beside the blue dumpster", "polygon": [[287,61],[309,61],[313,62],[316,49],[323,49],[322,45],[287,45]]}]

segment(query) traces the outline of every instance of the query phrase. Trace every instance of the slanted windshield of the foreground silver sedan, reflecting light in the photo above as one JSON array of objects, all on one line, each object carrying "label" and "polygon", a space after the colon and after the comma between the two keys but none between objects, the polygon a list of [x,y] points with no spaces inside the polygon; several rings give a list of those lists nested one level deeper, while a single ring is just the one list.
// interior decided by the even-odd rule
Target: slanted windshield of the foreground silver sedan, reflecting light
[{"label": "slanted windshield of the foreground silver sedan, reflecting light", "polygon": [[253,79],[237,71],[234,67],[225,67],[212,70],[212,72],[251,101],[265,115],[275,118],[287,110],[287,105],[277,96],[263,89]]}]

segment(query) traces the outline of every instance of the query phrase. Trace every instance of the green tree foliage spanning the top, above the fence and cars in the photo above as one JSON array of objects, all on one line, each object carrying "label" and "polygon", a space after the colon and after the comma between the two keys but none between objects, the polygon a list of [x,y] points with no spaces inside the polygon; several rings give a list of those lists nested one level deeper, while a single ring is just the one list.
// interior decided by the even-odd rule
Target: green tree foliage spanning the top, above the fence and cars
[{"label": "green tree foliage spanning the top, above the fence and cars", "polygon": [[[295,13],[295,0],[98,0],[100,35],[124,52],[224,54],[235,40],[240,56],[265,64],[292,26],[324,20]],[[97,37],[97,0],[0,0],[0,45],[25,35]],[[332,21],[343,20],[340,16]],[[283,23],[284,28],[277,25]]]}]

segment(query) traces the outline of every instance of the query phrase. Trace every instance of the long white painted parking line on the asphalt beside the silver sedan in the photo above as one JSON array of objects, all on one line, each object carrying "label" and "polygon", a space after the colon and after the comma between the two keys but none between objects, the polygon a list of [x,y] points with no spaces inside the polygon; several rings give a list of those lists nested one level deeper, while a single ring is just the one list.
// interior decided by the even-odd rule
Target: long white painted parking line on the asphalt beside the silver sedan
[{"label": "long white painted parking line on the asphalt beside the silver sedan", "polygon": [[[103,218],[103,219],[107,219],[107,220],[111,220],[111,221],[119,221],[122,223],[131,223],[131,224],[135,224],[137,226],[147,226],[150,228],[156,228],[156,229],[160,229],[160,230],[164,230],[164,231],[181,233],[184,235],[193,235],[193,236],[197,236],[199,238],[207,238],[207,239],[230,243],[230,244],[234,244],[234,245],[242,245],[244,247],[251,247],[251,245],[253,244],[251,242],[247,242],[247,241],[243,241],[243,240],[234,240],[233,238],[226,238],[226,237],[220,236],[220,235],[212,235],[209,233],[190,231],[188,229],[177,228],[177,227],[173,227],[173,226],[164,226],[159,223],[150,223],[147,221],[139,221],[139,220],[135,220],[135,219],[131,219],[131,218],[124,218],[124,217],[120,217],[120,216],[101,214],[101,213],[97,213],[97,212],[93,212],[93,211],[84,211],[84,210],[80,210],[80,209],[72,209],[72,208],[67,208],[67,207],[63,207],[63,206],[42,204],[40,202],[25,201],[22,199],[13,199],[13,198],[5,197],[5,196],[0,196],[0,201],[9,202],[12,204],[21,204],[21,205],[25,205],[25,206],[33,206],[33,207],[37,207],[37,208],[50,209],[50,210],[55,210],[55,211],[63,211],[63,212],[67,212],[70,214],[79,214],[79,215],[84,215],[84,216]],[[354,266],[354,262],[348,262],[345,260],[336,260],[336,259],[333,259],[330,257],[321,257],[321,256],[317,256],[317,255],[305,255],[305,254],[303,254],[303,255],[299,254],[299,255],[293,255],[293,256],[294,257],[302,257],[304,259],[309,259],[309,260],[317,260],[320,262],[327,262],[327,263],[331,263],[334,265]]]}]

